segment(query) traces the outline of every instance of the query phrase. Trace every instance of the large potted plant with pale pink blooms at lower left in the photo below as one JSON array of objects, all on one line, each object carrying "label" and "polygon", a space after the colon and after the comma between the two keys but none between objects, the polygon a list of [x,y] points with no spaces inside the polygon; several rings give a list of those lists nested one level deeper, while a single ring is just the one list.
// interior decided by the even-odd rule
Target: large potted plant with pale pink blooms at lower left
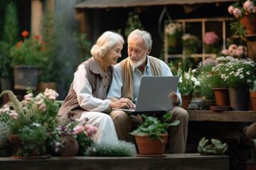
[{"label": "large potted plant with pale pink blooms at lower left", "polygon": [[55,118],[59,108],[55,101],[58,94],[51,89],[46,89],[36,97],[31,89],[27,93],[21,102],[12,91],[1,93],[9,94],[11,100],[11,103],[0,109],[1,114],[12,118],[9,123],[9,140],[16,145],[19,158],[50,157],[46,154],[46,140],[48,132],[53,131],[58,122]]}]

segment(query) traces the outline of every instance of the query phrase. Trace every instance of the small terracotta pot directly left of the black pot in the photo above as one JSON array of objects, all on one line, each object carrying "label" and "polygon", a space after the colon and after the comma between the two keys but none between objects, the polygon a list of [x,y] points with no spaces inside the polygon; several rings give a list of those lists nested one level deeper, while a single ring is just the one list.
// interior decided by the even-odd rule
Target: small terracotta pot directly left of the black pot
[{"label": "small terracotta pot directly left of the black pot", "polygon": [[216,106],[230,106],[228,88],[214,88]]}]

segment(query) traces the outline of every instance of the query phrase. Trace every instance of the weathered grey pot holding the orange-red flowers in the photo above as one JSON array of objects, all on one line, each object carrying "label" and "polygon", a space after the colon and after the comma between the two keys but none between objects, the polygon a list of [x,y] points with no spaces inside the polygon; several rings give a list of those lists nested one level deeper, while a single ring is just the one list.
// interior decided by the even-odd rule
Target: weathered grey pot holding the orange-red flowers
[{"label": "weathered grey pot holding the orange-red flowers", "polygon": [[26,90],[31,87],[31,90],[36,91],[38,84],[39,67],[18,65],[14,67],[14,89]]}]

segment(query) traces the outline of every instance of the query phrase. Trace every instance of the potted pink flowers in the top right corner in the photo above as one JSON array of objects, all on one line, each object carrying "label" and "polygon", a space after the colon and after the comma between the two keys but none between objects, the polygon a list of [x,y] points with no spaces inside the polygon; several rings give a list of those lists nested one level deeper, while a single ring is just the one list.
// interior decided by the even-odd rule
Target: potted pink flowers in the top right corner
[{"label": "potted pink flowers in the top right corner", "polygon": [[230,23],[231,29],[235,30],[235,35],[256,33],[255,0],[237,1],[228,7],[228,12],[237,18],[237,21]]}]

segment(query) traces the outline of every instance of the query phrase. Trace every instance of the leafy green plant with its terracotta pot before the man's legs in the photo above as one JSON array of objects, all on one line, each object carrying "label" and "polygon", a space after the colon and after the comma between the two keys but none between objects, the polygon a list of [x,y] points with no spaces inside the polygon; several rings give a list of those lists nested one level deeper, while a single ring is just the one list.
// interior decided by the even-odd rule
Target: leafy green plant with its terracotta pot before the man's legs
[{"label": "leafy green plant with its terracotta pot before the man's legs", "polygon": [[130,134],[135,135],[140,157],[164,157],[164,149],[168,138],[168,128],[178,125],[179,120],[168,123],[171,113],[164,115],[163,123],[154,116],[142,114],[144,122]]}]

